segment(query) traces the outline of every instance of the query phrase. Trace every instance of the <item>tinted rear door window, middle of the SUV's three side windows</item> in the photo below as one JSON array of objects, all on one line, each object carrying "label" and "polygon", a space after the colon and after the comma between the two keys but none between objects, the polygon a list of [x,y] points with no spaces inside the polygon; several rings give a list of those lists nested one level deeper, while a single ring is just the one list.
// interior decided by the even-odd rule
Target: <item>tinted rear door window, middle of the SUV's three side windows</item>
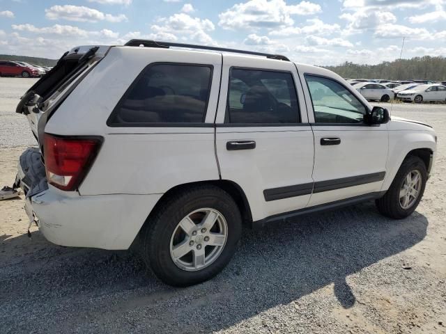
[{"label": "tinted rear door window, middle of the SUV's three side windows", "polygon": [[289,72],[232,68],[226,122],[288,124],[300,122],[298,97]]}]

